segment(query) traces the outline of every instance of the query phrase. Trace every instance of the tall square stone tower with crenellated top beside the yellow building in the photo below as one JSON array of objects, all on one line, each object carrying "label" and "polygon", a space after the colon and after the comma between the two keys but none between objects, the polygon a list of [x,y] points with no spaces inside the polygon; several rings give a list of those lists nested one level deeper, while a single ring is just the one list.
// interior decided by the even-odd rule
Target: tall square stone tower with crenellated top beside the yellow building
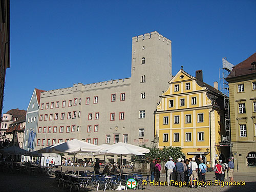
[{"label": "tall square stone tower with crenellated top beside the yellow building", "polygon": [[172,78],[172,41],[156,31],[133,37],[131,73],[131,143],[150,146],[154,111]]}]

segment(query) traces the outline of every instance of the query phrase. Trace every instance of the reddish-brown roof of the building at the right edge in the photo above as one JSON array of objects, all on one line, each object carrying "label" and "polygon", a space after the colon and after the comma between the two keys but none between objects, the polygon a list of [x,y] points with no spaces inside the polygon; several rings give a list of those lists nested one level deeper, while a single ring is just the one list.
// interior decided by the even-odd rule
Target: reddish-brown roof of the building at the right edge
[{"label": "reddish-brown roof of the building at the right edge", "polygon": [[256,52],[244,61],[240,62],[238,65],[234,66],[226,79],[239,77],[243,75],[256,74],[256,70],[252,70],[251,63],[253,61],[256,61]]}]

